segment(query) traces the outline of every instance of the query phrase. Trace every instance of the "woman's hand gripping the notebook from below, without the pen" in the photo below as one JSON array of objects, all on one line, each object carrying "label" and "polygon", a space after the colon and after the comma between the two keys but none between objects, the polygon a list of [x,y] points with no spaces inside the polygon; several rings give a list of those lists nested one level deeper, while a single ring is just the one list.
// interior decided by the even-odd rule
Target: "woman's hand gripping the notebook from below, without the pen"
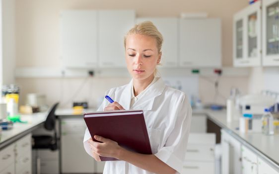
[{"label": "woman's hand gripping the notebook from below, without the pen", "polygon": [[93,141],[92,138],[88,140],[88,143],[91,147],[91,152],[96,161],[101,161],[99,156],[113,158],[119,157],[119,153],[122,150],[122,147],[120,147],[117,142],[97,135],[95,135],[94,138],[97,141],[102,142],[99,143]]}]

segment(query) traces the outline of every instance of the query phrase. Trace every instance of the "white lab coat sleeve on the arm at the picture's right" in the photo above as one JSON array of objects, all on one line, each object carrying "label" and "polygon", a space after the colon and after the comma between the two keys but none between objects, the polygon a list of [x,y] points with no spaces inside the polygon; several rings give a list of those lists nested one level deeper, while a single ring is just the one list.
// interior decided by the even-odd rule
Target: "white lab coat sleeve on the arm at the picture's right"
[{"label": "white lab coat sleeve on the arm at the picture's right", "polygon": [[191,105],[186,95],[183,95],[183,99],[180,101],[174,128],[169,134],[165,146],[155,154],[158,159],[178,173],[181,173],[183,169],[192,118]]}]

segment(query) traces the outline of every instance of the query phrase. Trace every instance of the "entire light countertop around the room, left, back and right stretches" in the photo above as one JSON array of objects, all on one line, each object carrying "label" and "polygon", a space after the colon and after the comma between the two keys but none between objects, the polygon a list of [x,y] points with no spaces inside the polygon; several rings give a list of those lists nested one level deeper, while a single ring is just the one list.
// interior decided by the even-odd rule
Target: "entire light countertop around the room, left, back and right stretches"
[{"label": "entire light countertop around the room, left, back and right stretches", "polygon": [[[84,112],[93,112],[96,108],[86,109]],[[83,114],[73,114],[72,109],[57,109],[55,112],[59,118],[83,118]],[[193,109],[193,114],[205,114],[215,124],[226,130],[230,135],[250,148],[256,154],[269,160],[279,167],[279,135],[267,136],[262,133],[241,133],[238,120],[226,122],[226,110],[212,111],[210,109]],[[0,149],[13,143],[17,139],[27,135],[38,128],[46,120],[47,112],[22,115],[22,121],[27,123],[15,123],[10,130],[3,130],[0,135]]]}]

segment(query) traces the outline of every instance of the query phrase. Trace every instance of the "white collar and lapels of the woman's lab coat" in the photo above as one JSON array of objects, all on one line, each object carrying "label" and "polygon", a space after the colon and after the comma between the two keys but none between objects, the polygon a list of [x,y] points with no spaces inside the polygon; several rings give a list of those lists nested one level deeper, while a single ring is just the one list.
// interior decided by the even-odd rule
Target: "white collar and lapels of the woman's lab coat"
[{"label": "white collar and lapels of the woman's lab coat", "polygon": [[[123,107],[125,109],[131,109],[131,98],[132,98],[132,87],[133,87],[133,80],[127,85],[123,91],[125,97],[123,97]],[[156,96],[162,94],[163,90],[165,89],[165,83],[162,78],[159,78],[154,84],[152,84],[144,95],[142,95],[134,104],[133,110],[152,110],[153,102]]]}]

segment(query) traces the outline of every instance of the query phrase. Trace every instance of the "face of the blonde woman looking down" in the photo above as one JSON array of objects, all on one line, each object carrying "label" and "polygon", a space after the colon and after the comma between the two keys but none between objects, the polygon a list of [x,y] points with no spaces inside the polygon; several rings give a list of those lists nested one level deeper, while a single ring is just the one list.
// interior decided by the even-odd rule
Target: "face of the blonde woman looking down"
[{"label": "face of the blonde woman looking down", "polygon": [[126,38],[125,57],[127,69],[133,79],[145,80],[154,76],[161,53],[158,53],[155,38],[132,34]]}]

